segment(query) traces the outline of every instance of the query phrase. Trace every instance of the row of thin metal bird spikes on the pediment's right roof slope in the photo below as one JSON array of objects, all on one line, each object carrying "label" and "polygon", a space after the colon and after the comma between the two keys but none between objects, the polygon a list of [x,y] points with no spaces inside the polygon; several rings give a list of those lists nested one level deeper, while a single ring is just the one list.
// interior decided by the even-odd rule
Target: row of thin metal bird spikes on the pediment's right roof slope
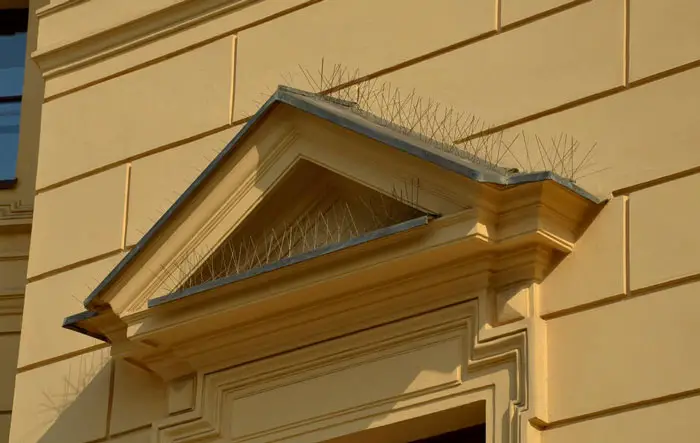
[{"label": "row of thin metal bird spikes on the pediment's right roof slope", "polygon": [[[329,69],[323,58],[315,73],[302,65],[298,65],[298,70],[300,76],[282,74],[288,86],[310,90],[320,97],[354,102],[355,112],[373,116],[386,126],[419,137],[450,155],[505,171],[546,169],[571,181],[584,173],[598,172],[587,173],[596,145],[582,152],[581,144],[569,135],[560,135],[547,144],[539,136],[535,136],[534,144],[530,143],[523,131],[513,138],[506,137],[503,127],[497,129],[472,114],[423,98],[415,89],[404,94],[392,83],[382,82],[378,75],[361,76],[359,70],[350,71],[340,64]],[[295,78],[305,83],[300,85]]]}]

